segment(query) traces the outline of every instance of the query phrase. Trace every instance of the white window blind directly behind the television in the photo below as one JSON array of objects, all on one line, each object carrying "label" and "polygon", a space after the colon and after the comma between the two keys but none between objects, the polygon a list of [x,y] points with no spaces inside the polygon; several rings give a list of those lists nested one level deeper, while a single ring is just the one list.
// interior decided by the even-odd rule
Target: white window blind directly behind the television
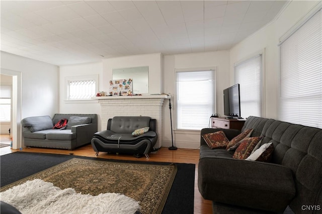
[{"label": "white window blind directly behind the television", "polygon": [[240,115],[262,117],[262,55],[234,67],[235,84],[239,83]]}]

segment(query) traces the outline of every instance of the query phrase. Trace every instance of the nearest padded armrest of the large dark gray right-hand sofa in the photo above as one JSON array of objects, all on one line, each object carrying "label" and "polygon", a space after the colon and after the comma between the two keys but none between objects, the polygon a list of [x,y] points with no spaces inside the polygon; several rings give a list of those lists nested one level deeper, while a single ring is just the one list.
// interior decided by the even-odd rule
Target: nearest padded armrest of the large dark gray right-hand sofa
[{"label": "nearest padded armrest of the large dark gray right-hand sofa", "polygon": [[205,199],[277,212],[295,196],[290,168],[224,157],[199,160],[198,188]]}]

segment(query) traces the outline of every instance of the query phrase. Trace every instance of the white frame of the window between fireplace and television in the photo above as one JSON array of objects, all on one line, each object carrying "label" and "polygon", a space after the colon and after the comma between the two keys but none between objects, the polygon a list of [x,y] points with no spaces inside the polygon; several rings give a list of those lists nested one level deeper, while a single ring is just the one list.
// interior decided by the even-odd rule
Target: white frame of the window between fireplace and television
[{"label": "white frame of the window between fireplace and television", "polygon": [[[217,112],[217,103],[216,103],[216,97],[217,97],[217,95],[216,95],[216,85],[217,85],[217,78],[216,78],[216,74],[217,74],[217,72],[216,72],[216,67],[205,67],[205,68],[187,68],[187,69],[175,69],[175,72],[174,72],[174,76],[175,76],[175,99],[174,99],[174,104],[175,104],[175,122],[174,122],[174,125],[175,125],[175,128],[174,128],[174,130],[175,130],[175,132],[185,132],[185,131],[192,131],[192,132],[194,132],[194,131],[196,131],[196,132],[200,132],[200,130],[201,129],[185,129],[185,128],[178,128],[178,114],[179,114],[179,112],[178,112],[178,84],[177,84],[177,82],[178,82],[178,80],[177,80],[177,73],[181,73],[181,72],[202,72],[202,71],[212,71],[212,74],[213,74],[213,83],[214,83],[214,85],[213,85],[213,109],[212,109],[212,111],[213,111],[213,113],[216,113]],[[210,125],[210,116],[211,116],[211,114],[209,115],[209,124],[208,124],[208,126],[207,127],[209,127],[209,125]],[[204,127],[204,128],[207,128],[207,127]]]}]

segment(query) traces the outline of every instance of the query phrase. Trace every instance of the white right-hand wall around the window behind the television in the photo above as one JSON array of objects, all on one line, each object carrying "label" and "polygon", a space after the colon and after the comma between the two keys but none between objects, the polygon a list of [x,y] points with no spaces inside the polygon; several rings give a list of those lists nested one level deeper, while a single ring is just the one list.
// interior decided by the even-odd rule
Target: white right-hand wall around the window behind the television
[{"label": "white right-hand wall around the window behind the television", "polygon": [[264,115],[277,119],[279,81],[279,39],[320,1],[292,1],[279,17],[265,28],[230,50],[230,84],[233,84],[233,64],[265,49]]}]

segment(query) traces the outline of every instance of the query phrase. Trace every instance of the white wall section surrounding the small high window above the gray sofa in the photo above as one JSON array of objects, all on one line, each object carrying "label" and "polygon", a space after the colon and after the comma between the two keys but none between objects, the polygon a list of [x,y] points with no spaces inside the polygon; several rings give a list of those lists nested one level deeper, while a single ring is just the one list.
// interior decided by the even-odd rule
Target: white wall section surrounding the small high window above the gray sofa
[{"label": "white wall section surrounding the small high window above the gray sofa", "polygon": [[[77,65],[60,66],[59,68],[59,113],[62,114],[98,114],[98,130],[101,130],[101,106],[97,100],[91,101],[66,101],[65,78],[74,76],[99,75],[99,90],[103,86],[102,62],[86,63]],[[108,82],[106,82],[108,84]]]}]

